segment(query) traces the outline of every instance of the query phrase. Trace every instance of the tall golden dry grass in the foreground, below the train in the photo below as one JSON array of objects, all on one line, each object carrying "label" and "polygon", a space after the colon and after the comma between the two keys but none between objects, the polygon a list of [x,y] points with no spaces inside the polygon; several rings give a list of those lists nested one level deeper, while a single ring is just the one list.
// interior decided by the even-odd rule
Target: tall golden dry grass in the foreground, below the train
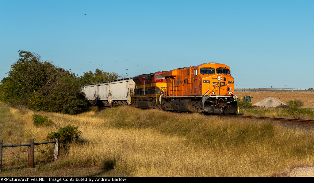
[{"label": "tall golden dry grass in the foreground, below the train", "polygon": [[34,112],[0,106],[4,141],[43,139],[68,124],[82,131],[57,163],[7,166],[1,176],[268,176],[314,162],[314,132],[271,122],[121,107],[38,112],[55,123],[38,128]]}]

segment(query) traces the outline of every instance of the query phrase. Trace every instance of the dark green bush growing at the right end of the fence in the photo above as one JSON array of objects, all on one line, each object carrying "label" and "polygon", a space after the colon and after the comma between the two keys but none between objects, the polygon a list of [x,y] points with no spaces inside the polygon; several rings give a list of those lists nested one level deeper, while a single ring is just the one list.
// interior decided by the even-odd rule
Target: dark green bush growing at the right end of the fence
[{"label": "dark green bush growing at the right end of the fence", "polygon": [[73,139],[78,139],[82,131],[78,131],[78,126],[68,125],[60,127],[58,131],[51,131],[46,137],[46,140],[55,140],[56,138],[62,142],[62,145],[72,142]]}]

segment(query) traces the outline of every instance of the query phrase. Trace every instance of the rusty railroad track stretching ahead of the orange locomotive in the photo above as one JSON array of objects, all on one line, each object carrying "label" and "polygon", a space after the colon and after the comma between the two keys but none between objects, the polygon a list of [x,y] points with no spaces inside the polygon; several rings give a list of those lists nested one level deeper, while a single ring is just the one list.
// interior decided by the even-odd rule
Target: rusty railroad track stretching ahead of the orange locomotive
[{"label": "rusty railroad track stretching ahead of the orange locomotive", "polygon": [[256,119],[256,120],[269,120],[286,123],[297,123],[302,125],[314,125],[314,120],[311,119],[289,119],[289,118],[270,118],[270,117],[259,117],[259,116],[241,116],[241,115],[221,115],[221,114],[209,114],[210,116],[217,116],[223,118],[242,118],[242,119]]}]

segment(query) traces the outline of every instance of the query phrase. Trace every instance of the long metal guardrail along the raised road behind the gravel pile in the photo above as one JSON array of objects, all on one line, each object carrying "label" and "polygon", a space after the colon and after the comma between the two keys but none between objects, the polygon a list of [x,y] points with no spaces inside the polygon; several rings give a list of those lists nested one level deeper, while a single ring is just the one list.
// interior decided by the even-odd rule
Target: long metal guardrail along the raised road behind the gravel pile
[{"label": "long metal guardrail along the raised road behind the gravel pile", "polygon": [[234,91],[314,93],[314,90],[300,88],[235,88]]}]

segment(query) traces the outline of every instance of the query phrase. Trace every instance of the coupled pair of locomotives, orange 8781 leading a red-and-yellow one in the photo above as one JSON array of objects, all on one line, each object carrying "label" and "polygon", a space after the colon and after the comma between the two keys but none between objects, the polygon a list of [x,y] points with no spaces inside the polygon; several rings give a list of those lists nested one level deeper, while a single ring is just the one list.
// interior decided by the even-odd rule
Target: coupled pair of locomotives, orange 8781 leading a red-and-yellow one
[{"label": "coupled pair of locomotives, orange 8781 leading a red-and-yellow one", "polygon": [[[161,74],[160,80],[149,79],[157,74]],[[225,64],[204,63],[151,75],[133,78],[137,89],[132,106],[214,114],[236,112],[234,79]]]}]

